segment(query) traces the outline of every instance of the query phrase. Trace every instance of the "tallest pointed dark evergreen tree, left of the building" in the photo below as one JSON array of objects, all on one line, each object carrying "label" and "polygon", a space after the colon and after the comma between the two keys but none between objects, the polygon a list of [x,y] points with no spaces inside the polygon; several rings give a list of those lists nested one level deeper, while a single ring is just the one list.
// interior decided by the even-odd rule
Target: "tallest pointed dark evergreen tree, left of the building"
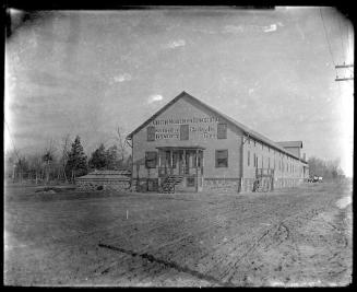
[{"label": "tallest pointed dark evergreen tree, left of the building", "polygon": [[87,157],[83,151],[81,138],[76,136],[74,142],[72,143],[67,162],[67,168],[70,171],[72,182],[76,176],[85,175],[87,173],[86,160]]}]

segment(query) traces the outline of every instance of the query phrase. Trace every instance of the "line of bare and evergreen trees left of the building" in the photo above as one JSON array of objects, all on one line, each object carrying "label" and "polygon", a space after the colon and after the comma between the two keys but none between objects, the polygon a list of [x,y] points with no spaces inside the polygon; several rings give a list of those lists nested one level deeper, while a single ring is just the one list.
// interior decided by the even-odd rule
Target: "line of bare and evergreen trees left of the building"
[{"label": "line of bare and evergreen trees left of the building", "polygon": [[14,153],[5,160],[7,177],[13,182],[32,180],[36,184],[50,182],[74,183],[75,177],[94,170],[129,170],[131,155],[118,128],[117,143],[105,148],[104,143],[95,149],[90,156],[84,152],[80,136],[70,141],[66,136],[60,145],[51,139],[41,152],[20,155]]}]

